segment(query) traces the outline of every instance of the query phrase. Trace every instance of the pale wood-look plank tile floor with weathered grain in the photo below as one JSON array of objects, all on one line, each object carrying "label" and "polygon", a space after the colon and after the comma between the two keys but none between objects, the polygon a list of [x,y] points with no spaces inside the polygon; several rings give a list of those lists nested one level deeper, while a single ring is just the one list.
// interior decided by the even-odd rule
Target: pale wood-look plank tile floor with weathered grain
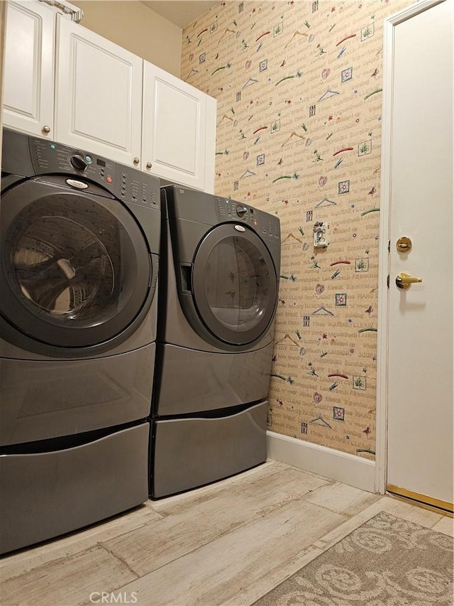
[{"label": "pale wood-look plank tile floor with weathered grain", "polygon": [[0,563],[2,606],[246,606],[378,512],[453,519],[268,460]]}]

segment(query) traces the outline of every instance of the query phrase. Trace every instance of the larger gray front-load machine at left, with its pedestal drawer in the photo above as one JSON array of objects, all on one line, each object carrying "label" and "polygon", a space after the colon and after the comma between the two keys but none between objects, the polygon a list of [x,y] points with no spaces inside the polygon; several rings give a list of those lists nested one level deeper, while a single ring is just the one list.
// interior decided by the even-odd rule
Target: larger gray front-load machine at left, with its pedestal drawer
[{"label": "larger gray front-load machine at left, with its pedestal drawer", "polygon": [[0,552],[148,498],[160,182],[4,129]]}]

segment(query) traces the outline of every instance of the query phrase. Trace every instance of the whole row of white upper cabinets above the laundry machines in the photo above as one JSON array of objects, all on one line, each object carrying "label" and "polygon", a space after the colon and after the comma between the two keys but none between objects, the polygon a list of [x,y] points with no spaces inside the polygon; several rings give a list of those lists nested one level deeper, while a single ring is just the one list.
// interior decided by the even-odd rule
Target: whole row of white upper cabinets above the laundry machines
[{"label": "whole row of white upper cabinets above the laundry machines", "polygon": [[5,54],[5,126],[214,193],[216,99],[35,0]]}]

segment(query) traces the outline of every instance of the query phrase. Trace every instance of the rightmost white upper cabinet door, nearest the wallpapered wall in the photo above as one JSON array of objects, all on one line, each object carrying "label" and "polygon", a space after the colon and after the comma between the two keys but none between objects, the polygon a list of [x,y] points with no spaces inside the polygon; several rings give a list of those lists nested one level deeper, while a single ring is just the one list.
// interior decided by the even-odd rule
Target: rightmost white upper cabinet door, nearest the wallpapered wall
[{"label": "rightmost white upper cabinet door, nearest the wallpapered wall", "polygon": [[143,71],[143,170],[212,193],[216,100],[147,61]]}]

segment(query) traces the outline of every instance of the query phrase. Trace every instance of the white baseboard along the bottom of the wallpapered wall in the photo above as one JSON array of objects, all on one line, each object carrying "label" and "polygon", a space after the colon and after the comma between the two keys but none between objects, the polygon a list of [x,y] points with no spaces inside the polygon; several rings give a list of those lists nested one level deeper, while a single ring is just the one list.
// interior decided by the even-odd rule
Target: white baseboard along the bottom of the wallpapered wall
[{"label": "white baseboard along the bottom of the wallpapered wall", "polygon": [[267,431],[267,455],[331,480],[375,492],[375,461]]}]

